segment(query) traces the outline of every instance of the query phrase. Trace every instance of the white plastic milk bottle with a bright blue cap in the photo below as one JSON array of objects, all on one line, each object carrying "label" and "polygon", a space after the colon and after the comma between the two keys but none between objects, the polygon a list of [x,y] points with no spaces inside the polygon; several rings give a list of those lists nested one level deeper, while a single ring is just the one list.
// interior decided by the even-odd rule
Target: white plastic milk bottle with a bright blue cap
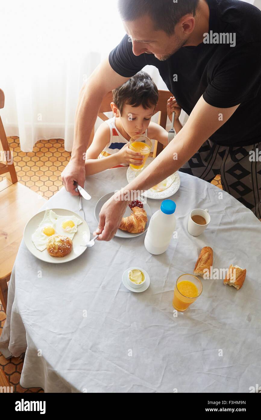
[{"label": "white plastic milk bottle with a bright blue cap", "polygon": [[175,210],[174,201],[164,200],[160,210],[152,215],[144,240],[145,248],[151,254],[163,254],[168,249],[176,228]]}]

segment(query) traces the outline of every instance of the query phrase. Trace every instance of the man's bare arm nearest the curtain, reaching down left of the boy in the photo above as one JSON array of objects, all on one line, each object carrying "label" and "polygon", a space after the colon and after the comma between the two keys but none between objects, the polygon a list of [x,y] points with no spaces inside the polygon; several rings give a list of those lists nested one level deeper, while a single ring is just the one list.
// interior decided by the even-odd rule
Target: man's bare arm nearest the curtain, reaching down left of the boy
[{"label": "man's bare arm nearest the curtain, reaching down left of the boy", "polygon": [[62,172],[62,181],[67,191],[75,192],[73,181],[84,186],[85,159],[90,134],[95,124],[101,102],[112,89],[121,86],[128,77],[117,74],[110,66],[109,59],[104,60],[90,75],[80,91],[78,106],[75,113],[75,129],[70,162]]}]

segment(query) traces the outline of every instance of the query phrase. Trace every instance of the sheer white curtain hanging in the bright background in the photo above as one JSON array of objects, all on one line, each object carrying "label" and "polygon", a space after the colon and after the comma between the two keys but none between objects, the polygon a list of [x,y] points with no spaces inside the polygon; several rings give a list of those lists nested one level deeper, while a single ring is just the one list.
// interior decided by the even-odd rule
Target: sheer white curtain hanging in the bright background
[{"label": "sheer white curtain hanging in the bright background", "polygon": [[[83,81],[125,34],[117,1],[8,0],[0,16],[1,117],[7,136],[19,136],[24,152],[51,138],[65,139],[65,150],[71,151]],[[144,70],[159,89],[167,89],[158,69]],[[181,122],[186,119],[182,111]]]}]

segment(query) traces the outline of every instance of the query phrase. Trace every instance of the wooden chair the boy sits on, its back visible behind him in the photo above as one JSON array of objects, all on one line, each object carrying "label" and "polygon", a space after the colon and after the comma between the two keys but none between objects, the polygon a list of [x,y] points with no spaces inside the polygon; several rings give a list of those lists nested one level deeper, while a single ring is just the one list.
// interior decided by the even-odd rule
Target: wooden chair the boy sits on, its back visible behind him
[{"label": "wooden chair the boy sits on, its back visible behind him", "polygon": [[[167,118],[168,118],[167,101],[169,97],[171,96],[173,95],[168,90],[159,90],[159,100],[155,108],[154,114],[159,113],[158,124],[162,126],[164,129],[166,128]],[[104,114],[104,112],[111,111],[111,102],[112,102],[112,92],[108,92],[107,95],[103,98],[103,101],[101,103],[101,108],[98,113],[98,117],[101,118],[103,121],[109,120],[109,118]],[[94,137],[94,128],[90,136],[89,146],[93,142],[93,137]],[[154,151],[150,154],[150,156],[156,157],[162,150],[163,150],[163,145],[161,143],[158,143],[156,140]]]}]

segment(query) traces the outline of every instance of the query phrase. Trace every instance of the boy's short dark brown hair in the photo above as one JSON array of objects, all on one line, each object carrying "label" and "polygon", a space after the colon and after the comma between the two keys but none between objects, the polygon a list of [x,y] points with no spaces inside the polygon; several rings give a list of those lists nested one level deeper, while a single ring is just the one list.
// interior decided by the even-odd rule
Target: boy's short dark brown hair
[{"label": "boy's short dark brown hair", "polygon": [[139,71],[123,85],[114,89],[112,94],[113,102],[119,108],[121,115],[124,105],[133,107],[142,105],[144,109],[148,109],[153,105],[156,106],[159,99],[158,88],[145,71]]}]

